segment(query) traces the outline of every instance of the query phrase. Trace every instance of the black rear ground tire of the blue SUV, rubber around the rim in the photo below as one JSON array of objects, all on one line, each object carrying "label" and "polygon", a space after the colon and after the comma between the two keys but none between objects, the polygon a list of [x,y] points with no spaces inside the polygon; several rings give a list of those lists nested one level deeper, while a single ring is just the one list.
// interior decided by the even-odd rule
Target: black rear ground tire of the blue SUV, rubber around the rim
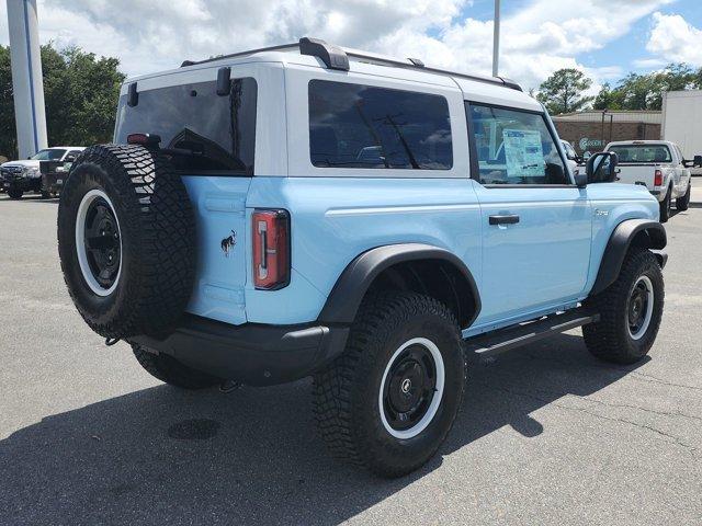
[{"label": "black rear ground tire of the blue SUV, rubber around the rim", "polygon": [[[440,405],[417,436],[399,439],[381,418],[378,393],[390,358],[403,342],[426,338],[443,358]],[[463,400],[466,361],[454,313],[414,293],[364,299],[346,350],[314,377],[314,413],[331,453],[382,477],[400,477],[429,460],[449,434]]]}]

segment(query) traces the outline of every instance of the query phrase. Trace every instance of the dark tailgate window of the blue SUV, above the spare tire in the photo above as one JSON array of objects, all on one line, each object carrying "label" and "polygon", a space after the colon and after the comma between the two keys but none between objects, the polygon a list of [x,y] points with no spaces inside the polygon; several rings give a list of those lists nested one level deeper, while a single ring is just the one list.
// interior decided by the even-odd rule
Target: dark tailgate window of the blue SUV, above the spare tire
[{"label": "dark tailgate window of the blue SUV, above the spare tire", "polygon": [[131,107],[120,99],[115,141],[131,134],[156,134],[178,170],[225,170],[253,174],[257,84],[231,81],[229,96],[215,82],[197,82],[139,92]]}]

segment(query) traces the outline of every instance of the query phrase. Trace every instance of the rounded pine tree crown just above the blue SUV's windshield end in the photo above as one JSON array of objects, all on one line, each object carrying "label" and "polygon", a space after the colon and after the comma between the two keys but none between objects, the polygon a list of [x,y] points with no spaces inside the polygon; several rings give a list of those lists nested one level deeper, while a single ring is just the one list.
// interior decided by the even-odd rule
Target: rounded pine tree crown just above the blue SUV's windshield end
[{"label": "rounded pine tree crown just above the blue SUV's windshield end", "polygon": [[542,82],[536,99],[554,115],[577,112],[592,100],[582,94],[591,85],[592,81],[582,71],[575,68],[559,69]]}]

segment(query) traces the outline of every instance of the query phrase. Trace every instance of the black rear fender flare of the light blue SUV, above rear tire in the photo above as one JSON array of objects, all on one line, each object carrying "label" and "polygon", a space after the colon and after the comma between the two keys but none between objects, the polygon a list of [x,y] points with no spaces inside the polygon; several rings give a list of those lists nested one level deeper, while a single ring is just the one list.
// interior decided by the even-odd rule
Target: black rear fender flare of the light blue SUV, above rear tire
[{"label": "black rear fender flare of the light blue SUV, above rear tire", "polygon": [[[403,243],[376,247],[358,255],[341,273],[331,289],[327,301],[319,315],[324,323],[350,324],[355,319],[356,311],[365,293],[373,281],[385,270],[398,263],[420,260],[440,260],[453,265],[465,279],[473,298],[472,316],[467,320],[468,327],[480,312],[480,295],[473,274],[463,261],[448,250],[423,243]],[[468,298],[461,298],[468,299]],[[463,325],[463,324],[462,324]]]}]

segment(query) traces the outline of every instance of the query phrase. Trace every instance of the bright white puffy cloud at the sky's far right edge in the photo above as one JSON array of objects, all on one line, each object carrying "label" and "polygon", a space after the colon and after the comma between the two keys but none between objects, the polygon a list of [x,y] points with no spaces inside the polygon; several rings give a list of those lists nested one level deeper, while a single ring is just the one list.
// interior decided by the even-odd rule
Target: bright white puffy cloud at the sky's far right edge
[{"label": "bright white puffy cloud at the sky's far right edge", "polygon": [[702,30],[689,24],[679,14],[653,15],[654,26],[646,44],[665,62],[688,62],[702,66]]}]

